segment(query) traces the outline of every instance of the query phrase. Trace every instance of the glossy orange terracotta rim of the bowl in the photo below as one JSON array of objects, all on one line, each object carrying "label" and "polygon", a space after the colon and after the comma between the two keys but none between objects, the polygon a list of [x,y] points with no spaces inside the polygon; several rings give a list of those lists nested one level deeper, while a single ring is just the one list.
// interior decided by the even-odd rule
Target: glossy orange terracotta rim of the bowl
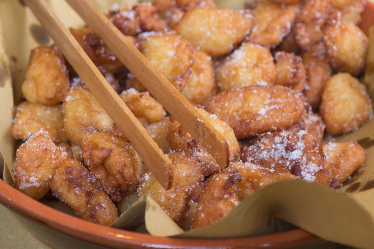
[{"label": "glossy orange terracotta rim of the bowl", "polygon": [[[367,2],[360,28],[368,35],[374,24],[374,4]],[[0,180],[0,203],[37,224],[68,236],[110,248],[295,248],[321,245],[324,240],[302,229],[237,239],[177,239],[103,227],[59,212],[18,192]]]}]

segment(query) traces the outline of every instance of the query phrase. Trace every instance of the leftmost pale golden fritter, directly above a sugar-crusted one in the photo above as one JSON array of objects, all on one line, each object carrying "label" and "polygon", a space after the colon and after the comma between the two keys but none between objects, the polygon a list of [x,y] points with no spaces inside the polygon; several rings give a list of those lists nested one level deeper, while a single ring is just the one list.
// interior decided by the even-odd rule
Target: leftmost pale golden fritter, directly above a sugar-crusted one
[{"label": "leftmost pale golden fritter, directly above a sugar-crusted one", "polygon": [[69,142],[62,130],[61,105],[46,106],[25,101],[15,107],[13,125],[10,127],[10,134],[15,139],[27,140],[30,133],[37,133],[41,128],[54,143]]}]

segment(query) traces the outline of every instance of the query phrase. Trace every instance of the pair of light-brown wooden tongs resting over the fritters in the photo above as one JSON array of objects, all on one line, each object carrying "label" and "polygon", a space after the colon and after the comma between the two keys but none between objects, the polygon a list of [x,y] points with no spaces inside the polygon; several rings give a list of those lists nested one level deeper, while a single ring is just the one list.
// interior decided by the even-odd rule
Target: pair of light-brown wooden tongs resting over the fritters
[{"label": "pair of light-brown wooden tongs resting over the fritters", "polygon": [[[165,189],[169,189],[172,182],[170,159],[111,88],[46,1],[24,1],[159,183]],[[229,165],[229,147],[226,139],[89,0],[67,0],[67,2],[161,105],[217,160],[222,168],[226,168]]]}]

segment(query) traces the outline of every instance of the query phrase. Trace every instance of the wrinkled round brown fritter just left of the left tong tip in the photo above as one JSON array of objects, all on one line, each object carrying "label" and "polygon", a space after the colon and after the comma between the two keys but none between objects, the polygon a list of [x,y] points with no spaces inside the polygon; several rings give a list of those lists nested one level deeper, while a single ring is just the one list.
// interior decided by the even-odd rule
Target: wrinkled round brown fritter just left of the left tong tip
[{"label": "wrinkled round brown fritter just left of the left tong tip", "polygon": [[141,181],[142,160],[125,137],[100,131],[83,140],[81,154],[101,186],[119,202],[136,191]]}]

